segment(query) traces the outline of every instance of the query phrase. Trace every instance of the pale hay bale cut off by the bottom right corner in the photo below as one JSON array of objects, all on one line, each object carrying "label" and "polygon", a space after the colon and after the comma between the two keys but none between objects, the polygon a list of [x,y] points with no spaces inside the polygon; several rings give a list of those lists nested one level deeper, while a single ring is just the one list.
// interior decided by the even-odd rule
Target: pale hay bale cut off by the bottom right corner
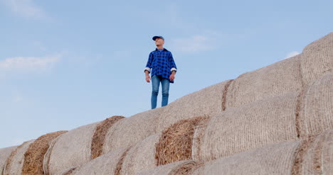
[{"label": "pale hay bale cut off by the bottom right corner", "polygon": [[307,149],[300,156],[302,165],[299,174],[332,174],[333,172],[333,130],[327,130],[307,143]]}]

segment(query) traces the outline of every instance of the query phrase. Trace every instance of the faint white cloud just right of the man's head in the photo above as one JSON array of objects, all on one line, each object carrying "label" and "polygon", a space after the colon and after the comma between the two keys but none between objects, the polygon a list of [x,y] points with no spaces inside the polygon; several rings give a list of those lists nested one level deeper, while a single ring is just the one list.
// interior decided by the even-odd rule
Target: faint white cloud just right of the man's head
[{"label": "faint white cloud just right of the man's head", "polygon": [[212,38],[203,35],[194,35],[190,38],[171,39],[171,47],[173,50],[182,52],[199,52],[213,50]]}]

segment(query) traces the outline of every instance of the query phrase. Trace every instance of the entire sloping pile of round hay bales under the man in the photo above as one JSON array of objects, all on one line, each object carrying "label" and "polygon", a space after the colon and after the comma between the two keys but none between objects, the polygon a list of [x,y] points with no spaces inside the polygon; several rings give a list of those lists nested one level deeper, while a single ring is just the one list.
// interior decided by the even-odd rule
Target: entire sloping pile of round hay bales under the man
[{"label": "entire sloping pile of round hay bales under the man", "polygon": [[0,149],[0,175],[329,174],[332,155],[330,33],[168,106]]}]

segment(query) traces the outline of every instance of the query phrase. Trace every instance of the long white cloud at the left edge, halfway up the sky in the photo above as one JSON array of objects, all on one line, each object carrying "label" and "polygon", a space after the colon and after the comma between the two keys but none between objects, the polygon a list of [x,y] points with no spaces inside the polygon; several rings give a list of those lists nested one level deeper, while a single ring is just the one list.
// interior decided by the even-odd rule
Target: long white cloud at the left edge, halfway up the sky
[{"label": "long white cloud at the left edge, halfway up the sky", "polygon": [[60,55],[51,57],[11,57],[0,61],[1,71],[45,71],[60,61]]}]

